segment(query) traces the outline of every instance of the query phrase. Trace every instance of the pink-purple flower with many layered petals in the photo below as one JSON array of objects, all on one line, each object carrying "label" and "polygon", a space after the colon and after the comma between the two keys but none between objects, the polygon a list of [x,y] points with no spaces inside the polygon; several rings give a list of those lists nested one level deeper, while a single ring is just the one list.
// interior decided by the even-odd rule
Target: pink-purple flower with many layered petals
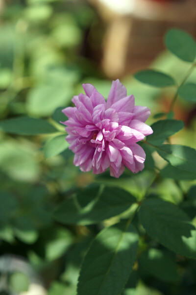
[{"label": "pink-purple flower with many layered petals", "polygon": [[135,106],[134,96],[127,96],[119,80],[112,82],[107,102],[93,85],[82,86],[86,95],[74,96],[75,107],[63,110],[68,117],[63,123],[69,134],[66,140],[75,154],[73,164],[95,174],[110,168],[114,177],[125,166],[133,173],[142,171],[146,155],[137,142],[153,132],[144,123],[150,110]]}]

